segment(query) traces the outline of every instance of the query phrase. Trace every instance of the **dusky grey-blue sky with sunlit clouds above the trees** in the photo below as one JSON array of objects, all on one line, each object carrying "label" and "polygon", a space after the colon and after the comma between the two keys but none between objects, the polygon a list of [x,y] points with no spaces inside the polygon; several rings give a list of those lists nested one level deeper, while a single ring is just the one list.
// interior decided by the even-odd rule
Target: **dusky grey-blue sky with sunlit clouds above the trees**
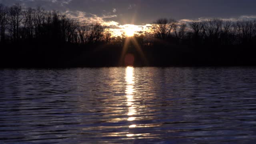
[{"label": "dusky grey-blue sky with sunlit clouds above the trees", "polygon": [[78,20],[104,23],[113,30],[132,26],[139,31],[158,18],[183,21],[256,18],[256,0],[0,0],[0,3],[42,6]]}]

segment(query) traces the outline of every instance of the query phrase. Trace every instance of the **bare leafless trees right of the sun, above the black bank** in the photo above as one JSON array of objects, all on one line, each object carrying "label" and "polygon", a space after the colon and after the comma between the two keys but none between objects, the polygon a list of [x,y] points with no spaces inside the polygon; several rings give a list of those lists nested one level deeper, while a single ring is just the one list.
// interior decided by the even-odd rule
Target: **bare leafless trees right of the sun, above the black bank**
[{"label": "bare leafless trees right of the sun, above the black bank", "polygon": [[159,19],[153,35],[165,41],[185,44],[251,45],[256,43],[256,21],[223,21],[218,18],[192,21],[188,25],[175,20]]}]

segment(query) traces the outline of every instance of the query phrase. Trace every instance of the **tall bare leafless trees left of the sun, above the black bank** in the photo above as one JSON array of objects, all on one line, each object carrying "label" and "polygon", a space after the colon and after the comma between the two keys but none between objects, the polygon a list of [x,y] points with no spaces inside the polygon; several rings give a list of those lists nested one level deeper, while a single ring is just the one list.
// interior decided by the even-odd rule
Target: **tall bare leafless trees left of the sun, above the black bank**
[{"label": "tall bare leafless trees left of the sun, above the black bank", "polygon": [[38,40],[45,42],[97,43],[110,41],[111,34],[98,23],[78,22],[55,10],[23,9],[19,4],[0,4],[1,42]]}]

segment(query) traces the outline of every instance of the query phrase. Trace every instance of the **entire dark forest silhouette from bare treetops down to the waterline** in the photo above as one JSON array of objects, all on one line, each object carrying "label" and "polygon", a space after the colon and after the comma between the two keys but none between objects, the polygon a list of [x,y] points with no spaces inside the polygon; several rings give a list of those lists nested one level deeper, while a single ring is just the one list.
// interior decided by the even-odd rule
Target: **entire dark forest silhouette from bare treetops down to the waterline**
[{"label": "entire dark forest silhouette from bare treetops down to the waterline", "polygon": [[55,10],[0,4],[0,67],[256,64],[255,20],[182,23],[160,18],[150,29],[133,37],[112,36],[107,26],[79,22]]}]

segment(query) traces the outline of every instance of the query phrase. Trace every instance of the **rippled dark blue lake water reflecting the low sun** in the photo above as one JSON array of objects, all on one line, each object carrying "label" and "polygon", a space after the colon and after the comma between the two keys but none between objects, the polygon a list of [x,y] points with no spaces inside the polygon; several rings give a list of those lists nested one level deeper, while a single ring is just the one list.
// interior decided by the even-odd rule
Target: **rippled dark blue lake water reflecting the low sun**
[{"label": "rippled dark blue lake water reflecting the low sun", "polygon": [[256,68],[0,70],[0,143],[255,143]]}]

